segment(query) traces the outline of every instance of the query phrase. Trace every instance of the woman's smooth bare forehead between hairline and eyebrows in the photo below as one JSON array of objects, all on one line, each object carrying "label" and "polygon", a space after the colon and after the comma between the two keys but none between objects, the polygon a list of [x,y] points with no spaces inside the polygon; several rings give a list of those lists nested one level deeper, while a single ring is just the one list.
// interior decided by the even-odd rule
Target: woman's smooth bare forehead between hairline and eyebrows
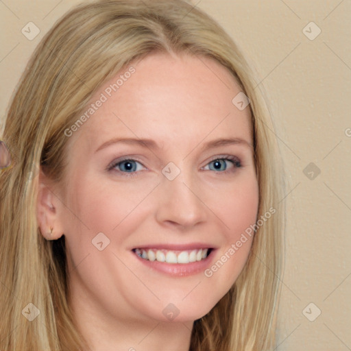
[{"label": "woman's smooth bare forehead between hairline and eyebrows", "polygon": [[86,109],[93,113],[73,137],[87,149],[117,136],[184,147],[207,136],[252,141],[250,109],[232,103],[239,92],[230,71],[211,58],[152,54],[97,90]]}]

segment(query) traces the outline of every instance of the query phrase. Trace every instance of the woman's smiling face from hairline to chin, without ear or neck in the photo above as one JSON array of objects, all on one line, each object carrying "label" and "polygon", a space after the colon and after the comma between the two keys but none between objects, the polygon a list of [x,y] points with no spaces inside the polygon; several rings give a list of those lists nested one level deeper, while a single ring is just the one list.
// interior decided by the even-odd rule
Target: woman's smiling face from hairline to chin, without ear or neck
[{"label": "woman's smiling face from hairline to chin, without ear or neck", "polygon": [[76,313],[193,321],[232,287],[252,237],[236,243],[258,209],[240,92],[210,58],[153,54],[101,87],[66,131],[58,220]]}]

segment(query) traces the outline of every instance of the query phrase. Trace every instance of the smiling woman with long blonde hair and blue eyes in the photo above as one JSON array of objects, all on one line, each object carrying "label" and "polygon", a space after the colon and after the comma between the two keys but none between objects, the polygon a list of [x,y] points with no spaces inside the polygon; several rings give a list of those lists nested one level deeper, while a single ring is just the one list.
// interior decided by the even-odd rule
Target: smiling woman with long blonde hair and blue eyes
[{"label": "smiling woman with long blonde hair and blue eyes", "polygon": [[1,350],[274,348],[282,186],[255,85],[184,1],[51,29],[3,134]]}]

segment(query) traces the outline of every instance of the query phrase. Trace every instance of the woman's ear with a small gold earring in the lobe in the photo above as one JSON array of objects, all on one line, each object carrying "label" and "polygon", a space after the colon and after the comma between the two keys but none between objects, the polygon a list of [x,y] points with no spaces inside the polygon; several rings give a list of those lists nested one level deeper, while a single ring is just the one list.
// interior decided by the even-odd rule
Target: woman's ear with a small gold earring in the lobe
[{"label": "woman's ear with a small gold earring in the lobe", "polygon": [[47,178],[40,167],[36,217],[40,232],[47,240],[59,239],[63,234],[60,218],[63,205],[55,194],[53,182]]}]

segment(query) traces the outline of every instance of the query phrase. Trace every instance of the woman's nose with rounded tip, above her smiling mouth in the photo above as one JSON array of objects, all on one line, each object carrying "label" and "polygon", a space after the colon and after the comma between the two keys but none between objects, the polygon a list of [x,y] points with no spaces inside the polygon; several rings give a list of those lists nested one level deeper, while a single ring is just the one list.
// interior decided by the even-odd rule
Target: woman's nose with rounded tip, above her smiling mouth
[{"label": "woman's nose with rounded tip, above her smiling mouth", "polygon": [[156,220],[162,226],[174,226],[186,230],[208,217],[208,208],[202,202],[200,189],[190,177],[181,172],[174,180],[162,177],[158,186]]}]

